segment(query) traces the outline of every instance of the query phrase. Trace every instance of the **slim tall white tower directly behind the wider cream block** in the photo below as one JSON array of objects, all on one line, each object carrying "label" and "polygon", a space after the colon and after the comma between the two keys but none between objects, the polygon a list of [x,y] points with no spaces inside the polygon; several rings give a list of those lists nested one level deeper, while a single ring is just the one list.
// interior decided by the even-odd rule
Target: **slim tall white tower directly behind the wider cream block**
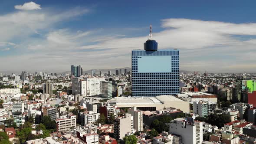
[{"label": "slim tall white tower directly behind the wider cream block", "polygon": [[128,114],[133,116],[133,127],[136,131],[143,131],[143,112],[136,107],[128,109]]}]

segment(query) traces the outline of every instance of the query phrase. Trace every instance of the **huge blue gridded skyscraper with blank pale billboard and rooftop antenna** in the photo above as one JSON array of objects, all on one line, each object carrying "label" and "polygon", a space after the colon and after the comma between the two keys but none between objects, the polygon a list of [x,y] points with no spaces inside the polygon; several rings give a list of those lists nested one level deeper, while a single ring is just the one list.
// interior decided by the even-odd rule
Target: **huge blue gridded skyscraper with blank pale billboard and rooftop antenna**
[{"label": "huge blue gridded skyscraper with blank pale billboard and rooftop antenna", "polygon": [[179,50],[158,50],[150,36],[144,50],[131,52],[132,96],[154,97],[179,93]]}]

